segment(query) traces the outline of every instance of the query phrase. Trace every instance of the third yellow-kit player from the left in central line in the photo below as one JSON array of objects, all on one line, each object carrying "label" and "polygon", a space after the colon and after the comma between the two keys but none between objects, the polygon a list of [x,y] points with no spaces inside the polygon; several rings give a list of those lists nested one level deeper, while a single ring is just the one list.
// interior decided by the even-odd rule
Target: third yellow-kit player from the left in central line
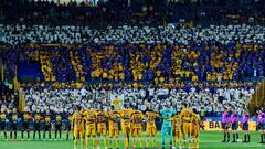
[{"label": "third yellow-kit player from the left in central line", "polygon": [[104,146],[105,149],[107,149],[107,114],[103,110],[103,107],[100,107],[100,109],[97,111],[96,114],[96,123],[97,123],[97,148],[99,148],[100,146],[100,136],[103,136],[104,138]]}]

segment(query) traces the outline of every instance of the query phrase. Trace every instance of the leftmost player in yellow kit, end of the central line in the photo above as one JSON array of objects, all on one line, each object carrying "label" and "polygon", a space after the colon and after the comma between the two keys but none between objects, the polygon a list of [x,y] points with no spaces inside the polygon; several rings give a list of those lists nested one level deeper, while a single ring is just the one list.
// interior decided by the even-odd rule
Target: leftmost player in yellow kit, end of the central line
[{"label": "leftmost player in yellow kit, end of the central line", "polygon": [[77,149],[78,139],[81,140],[82,149],[84,149],[84,117],[81,111],[81,106],[77,106],[77,110],[72,117],[72,128],[74,128],[74,148]]}]

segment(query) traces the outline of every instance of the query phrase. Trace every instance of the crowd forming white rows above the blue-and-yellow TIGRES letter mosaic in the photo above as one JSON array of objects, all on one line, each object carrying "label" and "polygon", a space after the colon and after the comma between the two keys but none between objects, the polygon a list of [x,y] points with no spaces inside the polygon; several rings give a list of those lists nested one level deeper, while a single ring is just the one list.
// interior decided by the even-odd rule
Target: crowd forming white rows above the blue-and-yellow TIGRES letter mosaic
[{"label": "crowd forming white rows above the blue-and-yellow TIGRES letter mosaic", "polygon": [[[265,28],[259,25],[193,29],[125,25],[106,30],[1,25],[0,29],[0,41],[12,45],[87,44],[77,49],[2,47],[0,53],[6,72],[14,72],[15,66],[24,61],[36,63],[43,75],[40,79],[46,82],[221,82],[263,77],[265,71],[265,61],[262,58],[265,56]],[[9,56],[4,58],[7,54]],[[14,73],[7,76],[11,74]]]}]

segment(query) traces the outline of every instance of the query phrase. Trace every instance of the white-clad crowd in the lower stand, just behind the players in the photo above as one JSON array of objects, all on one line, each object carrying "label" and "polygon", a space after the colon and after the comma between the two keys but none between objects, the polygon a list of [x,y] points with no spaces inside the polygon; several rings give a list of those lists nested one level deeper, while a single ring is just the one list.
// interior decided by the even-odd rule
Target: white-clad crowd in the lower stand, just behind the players
[{"label": "white-clad crowd in the lower stand, just behind the players", "polygon": [[247,102],[255,93],[255,86],[212,87],[203,88],[192,85],[182,88],[155,88],[155,87],[25,87],[24,95],[26,107],[34,111],[38,107],[41,111],[46,109],[62,113],[82,105],[84,108],[98,109],[100,106],[109,110],[112,100],[120,98],[123,104],[132,109],[146,111],[148,105],[153,110],[160,110],[165,104],[170,104],[177,111],[181,110],[183,103],[195,108],[205,117],[221,117],[224,107],[234,106],[239,114],[247,108]]}]

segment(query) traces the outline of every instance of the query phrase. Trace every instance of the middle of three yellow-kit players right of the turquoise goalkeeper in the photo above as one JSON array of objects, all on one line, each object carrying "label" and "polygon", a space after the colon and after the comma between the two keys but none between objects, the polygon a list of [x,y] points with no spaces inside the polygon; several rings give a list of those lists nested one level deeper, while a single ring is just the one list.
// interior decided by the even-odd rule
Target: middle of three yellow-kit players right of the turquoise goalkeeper
[{"label": "middle of three yellow-kit players right of the turquoise goalkeeper", "polygon": [[183,109],[180,113],[180,117],[182,120],[182,135],[183,135],[183,148],[186,148],[186,143],[188,141],[188,146],[190,148],[191,143],[191,117],[192,110],[187,107],[187,104],[183,104]]}]

